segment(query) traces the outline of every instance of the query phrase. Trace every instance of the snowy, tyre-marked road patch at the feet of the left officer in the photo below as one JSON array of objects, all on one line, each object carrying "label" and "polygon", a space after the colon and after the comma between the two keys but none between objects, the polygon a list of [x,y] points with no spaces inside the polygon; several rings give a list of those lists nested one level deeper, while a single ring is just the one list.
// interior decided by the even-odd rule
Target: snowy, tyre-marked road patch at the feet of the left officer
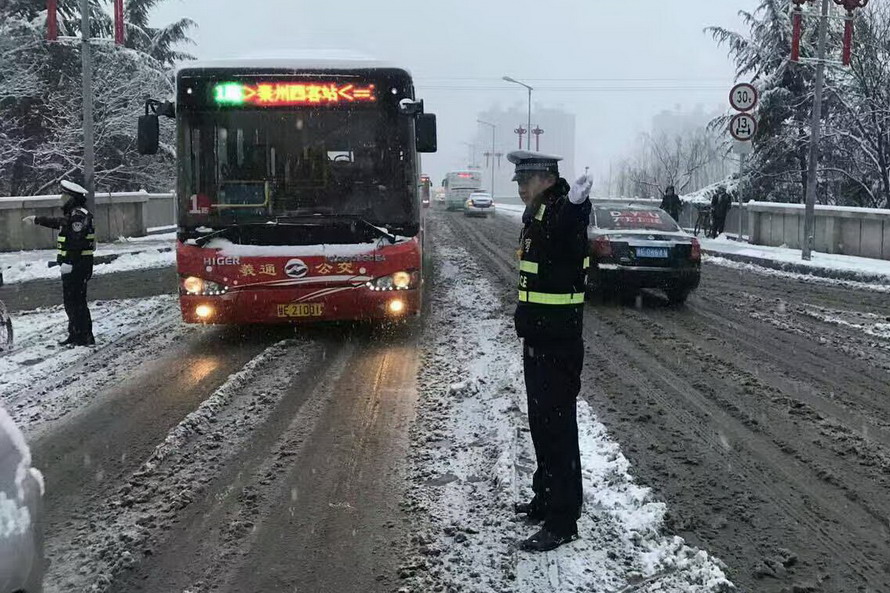
[{"label": "snowy, tyre-marked road patch at the feet of the left officer", "polygon": [[90,309],[99,343],[92,348],[57,345],[67,324],[62,307],[12,317],[15,347],[0,356],[0,405],[31,438],[190,331],[176,322],[173,296],[98,301]]}]

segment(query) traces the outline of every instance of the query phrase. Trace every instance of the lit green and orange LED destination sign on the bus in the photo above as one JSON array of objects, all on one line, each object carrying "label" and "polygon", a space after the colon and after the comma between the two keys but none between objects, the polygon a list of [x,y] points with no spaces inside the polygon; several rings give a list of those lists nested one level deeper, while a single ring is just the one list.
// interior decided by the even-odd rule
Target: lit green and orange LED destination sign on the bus
[{"label": "lit green and orange LED destination sign on the bus", "polygon": [[372,103],[377,95],[373,84],[361,87],[335,82],[223,82],[213,87],[213,100],[220,106],[299,107]]}]

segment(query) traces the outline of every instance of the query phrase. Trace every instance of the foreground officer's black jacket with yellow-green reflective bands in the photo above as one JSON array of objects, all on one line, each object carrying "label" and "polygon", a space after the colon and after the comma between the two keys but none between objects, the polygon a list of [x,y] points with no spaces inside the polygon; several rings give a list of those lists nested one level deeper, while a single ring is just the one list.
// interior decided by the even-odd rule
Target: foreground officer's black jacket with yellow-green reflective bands
[{"label": "foreground officer's black jacket with yellow-green reflective bands", "polygon": [[[562,180],[560,180],[562,181]],[[562,184],[565,184],[563,181]],[[571,204],[568,184],[558,183],[527,209],[519,245],[516,331],[528,339],[581,335],[587,284],[590,202]]]}]

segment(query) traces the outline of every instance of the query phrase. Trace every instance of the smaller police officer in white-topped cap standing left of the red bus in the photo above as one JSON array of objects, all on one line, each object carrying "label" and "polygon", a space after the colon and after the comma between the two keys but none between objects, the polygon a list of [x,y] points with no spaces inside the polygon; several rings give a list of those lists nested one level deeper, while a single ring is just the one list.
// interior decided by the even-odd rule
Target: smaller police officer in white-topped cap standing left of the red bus
[{"label": "smaller police officer in white-topped cap standing left of the red bus", "polygon": [[93,215],[86,209],[87,190],[71,181],[62,181],[61,217],[28,216],[23,219],[58,229],[58,263],[62,271],[62,296],[68,314],[68,338],[64,346],[92,346],[93,321],[87,306],[87,282],[93,276],[96,231]]}]

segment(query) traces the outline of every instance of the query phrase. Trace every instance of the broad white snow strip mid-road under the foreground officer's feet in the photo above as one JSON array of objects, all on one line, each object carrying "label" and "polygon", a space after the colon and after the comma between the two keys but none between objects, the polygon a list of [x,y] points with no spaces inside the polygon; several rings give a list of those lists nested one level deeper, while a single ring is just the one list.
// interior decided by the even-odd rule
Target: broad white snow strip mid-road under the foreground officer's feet
[{"label": "broad white snow strip mid-road under the foreground officer's feet", "polygon": [[[455,244],[443,225],[436,230]],[[509,304],[501,308],[462,248],[439,247],[437,261],[442,290],[423,352],[404,504],[419,526],[400,591],[734,590],[719,560],[662,535],[665,505],[633,482],[627,459],[583,401],[580,539],[548,554],[517,551],[536,529],[512,513],[531,496],[535,462]]]}]

